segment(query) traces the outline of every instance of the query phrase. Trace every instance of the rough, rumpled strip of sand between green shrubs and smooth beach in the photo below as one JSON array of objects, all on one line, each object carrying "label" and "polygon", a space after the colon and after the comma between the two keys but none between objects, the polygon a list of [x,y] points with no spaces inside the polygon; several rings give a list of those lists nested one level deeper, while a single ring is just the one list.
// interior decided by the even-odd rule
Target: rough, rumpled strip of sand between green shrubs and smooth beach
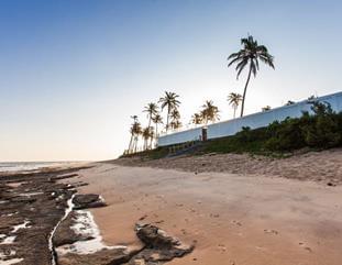
[{"label": "rough, rumpled strip of sand between green shrubs and smooth beach", "polygon": [[263,175],[301,180],[342,184],[342,148],[308,152],[288,158],[251,156],[249,154],[207,154],[201,156],[177,156],[154,161],[121,158],[113,163],[123,166],[143,166],[180,169],[186,172],[219,172]]}]

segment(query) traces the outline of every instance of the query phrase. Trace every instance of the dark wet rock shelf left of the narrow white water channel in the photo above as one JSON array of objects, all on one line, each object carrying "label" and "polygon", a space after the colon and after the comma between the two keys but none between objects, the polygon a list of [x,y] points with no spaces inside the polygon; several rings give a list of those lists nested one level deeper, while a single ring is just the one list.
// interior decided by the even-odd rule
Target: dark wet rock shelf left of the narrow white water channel
[{"label": "dark wet rock shelf left of the narrow white water channel", "polygon": [[58,176],[73,177],[79,169],[54,168],[0,177],[3,264],[51,264],[48,238],[74,192],[71,187],[57,183]]}]

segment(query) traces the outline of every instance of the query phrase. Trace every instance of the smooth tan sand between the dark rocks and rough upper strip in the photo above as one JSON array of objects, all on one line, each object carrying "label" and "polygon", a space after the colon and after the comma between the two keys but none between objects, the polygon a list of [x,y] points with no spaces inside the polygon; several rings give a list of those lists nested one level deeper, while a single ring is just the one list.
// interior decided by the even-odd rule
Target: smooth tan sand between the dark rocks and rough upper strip
[{"label": "smooth tan sand between the dark rocks and rough upper strip", "polygon": [[[341,151],[334,152],[329,162],[316,161],[313,179],[327,163],[341,173]],[[298,168],[296,178],[302,179],[300,168],[308,174],[305,164],[310,159],[290,159]],[[341,265],[342,186],[252,173],[195,174],[103,163],[81,170],[75,180],[89,183],[81,192],[101,194],[109,203],[91,210],[109,245],[140,244],[133,228],[143,219],[196,243],[191,254],[169,263],[174,265]],[[337,172],[329,174],[341,178]]]}]

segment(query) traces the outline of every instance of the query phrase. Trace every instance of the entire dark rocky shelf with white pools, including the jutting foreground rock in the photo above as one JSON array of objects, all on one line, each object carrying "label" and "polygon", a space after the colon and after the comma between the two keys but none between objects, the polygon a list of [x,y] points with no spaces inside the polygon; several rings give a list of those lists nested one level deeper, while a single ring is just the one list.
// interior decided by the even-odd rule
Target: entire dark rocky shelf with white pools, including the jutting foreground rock
[{"label": "entire dark rocky shelf with white pools, including the jutting foreground rock", "polygon": [[79,170],[91,167],[49,168],[0,178],[1,264],[152,265],[192,251],[191,245],[148,223],[133,229],[141,242],[136,246],[106,244],[89,210],[106,208],[106,201],[100,195],[77,190],[88,185],[79,180]]}]

